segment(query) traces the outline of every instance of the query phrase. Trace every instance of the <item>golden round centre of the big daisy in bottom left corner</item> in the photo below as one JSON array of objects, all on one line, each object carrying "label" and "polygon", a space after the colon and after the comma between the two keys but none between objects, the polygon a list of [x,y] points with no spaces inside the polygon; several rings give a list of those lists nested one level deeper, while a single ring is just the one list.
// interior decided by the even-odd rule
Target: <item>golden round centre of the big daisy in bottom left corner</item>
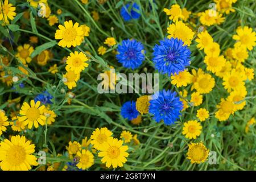
[{"label": "golden round centre of the big daisy in bottom left corner", "polygon": [[26,151],[21,146],[12,146],[6,154],[10,166],[19,166],[26,159]]}]

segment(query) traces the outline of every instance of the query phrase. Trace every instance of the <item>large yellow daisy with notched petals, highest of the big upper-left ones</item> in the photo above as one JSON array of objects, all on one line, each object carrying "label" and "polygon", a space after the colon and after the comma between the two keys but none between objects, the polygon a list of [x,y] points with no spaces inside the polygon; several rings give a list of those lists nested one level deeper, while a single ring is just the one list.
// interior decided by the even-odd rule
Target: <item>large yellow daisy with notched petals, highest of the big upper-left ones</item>
[{"label": "large yellow daisy with notched petals, highest of the big upper-left ones", "polygon": [[56,30],[55,39],[61,39],[58,43],[61,47],[76,47],[80,46],[84,36],[82,27],[79,27],[79,23],[73,25],[72,20],[65,21],[64,26],[59,25],[59,30]]}]

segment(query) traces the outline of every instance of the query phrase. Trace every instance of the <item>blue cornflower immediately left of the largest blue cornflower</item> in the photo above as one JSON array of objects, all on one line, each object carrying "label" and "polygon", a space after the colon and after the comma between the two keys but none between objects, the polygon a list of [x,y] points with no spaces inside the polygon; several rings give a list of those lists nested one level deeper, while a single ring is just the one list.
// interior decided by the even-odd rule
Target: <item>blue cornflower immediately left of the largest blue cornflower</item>
[{"label": "blue cornflower immediately left of the largest blue cornflower", "polygon": [[116,55],[118,62],[123,65],[125,68],[136,69],[144,61],[145,56],[142,53],[144,46],[141,42],[137,40],[123,40],[122,45],[118,45]]}]

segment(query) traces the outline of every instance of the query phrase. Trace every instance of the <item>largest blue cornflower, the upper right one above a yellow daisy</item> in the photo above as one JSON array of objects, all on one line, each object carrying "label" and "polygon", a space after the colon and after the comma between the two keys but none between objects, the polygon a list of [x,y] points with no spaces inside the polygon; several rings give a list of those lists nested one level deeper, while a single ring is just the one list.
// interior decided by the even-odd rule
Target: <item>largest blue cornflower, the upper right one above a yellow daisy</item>
[{"label": "largest blue cornflower, the upper right one above a yellow daisy", "polygon": [[160,45],[156,44],[153,52],[153,62],[155,68],[159,72],[169,76],[185,70],[190,64],[191,52],[187,46],[183,46],[182,40],[164,39],[160,41]]}]

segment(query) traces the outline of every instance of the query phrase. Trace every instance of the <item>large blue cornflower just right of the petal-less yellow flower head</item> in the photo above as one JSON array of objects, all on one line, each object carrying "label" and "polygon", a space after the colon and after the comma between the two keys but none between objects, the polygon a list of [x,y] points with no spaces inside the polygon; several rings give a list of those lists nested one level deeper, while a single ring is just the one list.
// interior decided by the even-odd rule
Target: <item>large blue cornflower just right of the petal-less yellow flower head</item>
[{"label": "large blue cornflower just right of the petal-less yellow flower head", "polygon": [[156,122],[164,121],[166,125],[173,124],[180,116],[183,104],[176,92],[163,90],[155,93],[150,100],[149,113],[154,115]]}]

